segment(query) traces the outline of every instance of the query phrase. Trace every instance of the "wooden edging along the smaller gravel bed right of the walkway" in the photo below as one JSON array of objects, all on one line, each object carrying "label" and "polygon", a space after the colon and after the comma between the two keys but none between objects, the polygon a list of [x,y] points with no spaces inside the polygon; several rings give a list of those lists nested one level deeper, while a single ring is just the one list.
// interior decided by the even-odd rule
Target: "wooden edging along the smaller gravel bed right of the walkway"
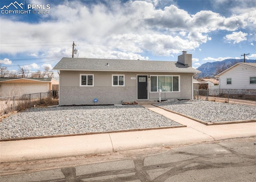
[{"label": "wooden edging along the smaller gravel bed right of the walkway", "polygon": [[[152,104],[153,105],[153,104]],[[153,105],[153,106],[156,106],[156,105]],[[199,119],[196,119],[194,117],[190,117],[188,115],[185,115],[185,114],[181,114],[181,113],[178,113],[178,112],[175,112],[175,111],[172,111],[172,110],[168,110],[166,108],[163,108],[161,106],[156,106],[158,108],[161,108],[163,110],[166,110],[168,112],[172,112],[174,114],[178,114],[178,115],[181,115],[181,116],[184,116],[184,117],[187,117],[189,119],[192,119],[194,121],[198,121],[199,123],[202,123],[204,125],[225,125],[225,124],[234,124],[234,123],[252,123],[252,122],[256,122],[256,119],[249,119],[249,120],[239,120],[239,121],[221,121],[221,122],[211,122],[211,123],[208,123],[208,122],[205,122],[205,121],[201,121]],[[175,121],[176,122],[176,121]]]}]

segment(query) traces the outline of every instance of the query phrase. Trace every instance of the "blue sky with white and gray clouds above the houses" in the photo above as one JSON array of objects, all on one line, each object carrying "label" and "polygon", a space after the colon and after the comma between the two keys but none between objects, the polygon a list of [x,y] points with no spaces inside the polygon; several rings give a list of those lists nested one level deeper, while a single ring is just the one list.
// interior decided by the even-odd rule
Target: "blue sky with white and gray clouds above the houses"
[{"label": "blue sky with white and gray clouds above the houses", "polygon": [[[0,64],[8,70],[52,68],[72,56],[73,41],[75,57],[177,61],[188,51],[195,68],[244,53],[256,59],[255,0],[16,0],[23,9],[7,7],[14,2],[0,1]],[[28,5],[38,5],[36,14]]]}]

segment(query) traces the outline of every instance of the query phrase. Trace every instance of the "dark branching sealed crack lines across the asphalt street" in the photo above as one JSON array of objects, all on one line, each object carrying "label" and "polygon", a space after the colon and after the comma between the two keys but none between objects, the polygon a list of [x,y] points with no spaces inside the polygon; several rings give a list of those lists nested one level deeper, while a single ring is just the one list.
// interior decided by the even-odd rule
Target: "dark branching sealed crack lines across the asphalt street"
[{"label": "dark branching sealed crack lines across the asphalt street", "polygon": [[[186,155],[192,158],[180,160],[176,162],[166,162],[161,164],[144,166],[146,157],[136,157],[131,159],[134,163],[134,168],[109,170],[104,172],[83,174],[80,176],[76,176],[76,167],[61,168],[61,172],[64,174],[65,178],[54,179],[54,180],[43,180],[43,181],[37,181],[37,182],[84,182],[84,181],[127,182],[131,180],[140,180],[141,182],[164,182],[172,176],[180,175],[190,170],[202,170],[202,169],[213,169],[213,168],[224,168],[224,167],[232,168],[232,167],[256,165],[256,156],[238,153],[237,151],[234,151],[224,145],[221,145],[220,143],[215,143],[215,144],[220,146],[225,151],[225,153],[209,155],[209,154],[189,153],[189,152],[170,150],[168,152],[171,152],[172,155],[174,154]],[[158,155],[160,154],[156,154],[155,156],[157,157]],[[222,160],[220,161],[214,160],[214,159],[221,159],[221,157],[222,158],[238,157],[241,159],[248,159],[248,160],[242,160],[240,162],[239,161],[225,162]],[[159,170],[159,169],[162,169],[162,170]],[[162,174],[155,176],[155,178],[152,179],[152,176],[149,175],[149,171],[152,171],[152,170],[158,170]],[[102,179],[103,177],[107,177],[107,178]],[[196,179],[194,178],[194,180]]]}]

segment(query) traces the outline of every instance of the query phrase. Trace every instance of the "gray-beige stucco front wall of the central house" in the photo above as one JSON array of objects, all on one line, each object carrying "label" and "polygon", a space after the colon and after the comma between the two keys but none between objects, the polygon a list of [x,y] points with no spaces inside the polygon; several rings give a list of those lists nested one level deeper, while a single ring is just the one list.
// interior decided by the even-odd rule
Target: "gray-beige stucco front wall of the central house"
[{"label": "gray-beige stucco front wall of the central house", "polygon": [[[80,86],[80,74],[93,74],[94,86]],[[112,86],[112,74],[124,75],[125,86]],[[180,92],[162,92],[161,98],[192,98],[192,73],[60,71],[60,106],[94,104],[95,98],[98,99],[96,104],[136,101],[137,75],[179,75]],[[148,90],[148,94],[149,100],[159,99],[158,92]]]}]

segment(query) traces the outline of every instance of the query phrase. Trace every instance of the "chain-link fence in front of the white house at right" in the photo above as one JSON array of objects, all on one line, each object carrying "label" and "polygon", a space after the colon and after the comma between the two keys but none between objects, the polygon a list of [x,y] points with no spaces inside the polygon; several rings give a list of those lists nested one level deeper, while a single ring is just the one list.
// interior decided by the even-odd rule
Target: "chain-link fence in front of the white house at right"
[{"label": "chain-link fence in front of the white house at right", "polygon": [[194,99],[256,106],[256,90],[249,90],[249,89],[194,90]]}]

